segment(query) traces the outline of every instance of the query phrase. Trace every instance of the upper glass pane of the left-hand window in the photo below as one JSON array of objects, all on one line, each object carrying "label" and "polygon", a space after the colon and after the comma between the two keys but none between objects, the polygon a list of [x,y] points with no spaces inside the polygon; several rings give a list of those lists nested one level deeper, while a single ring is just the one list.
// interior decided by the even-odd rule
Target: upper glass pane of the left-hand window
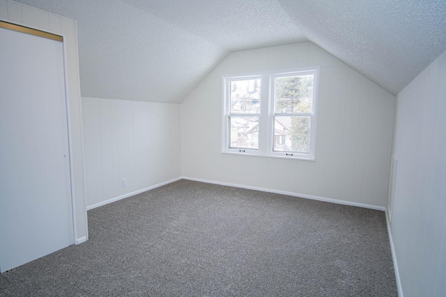
[{"label": "upper glass pane of the left-hand window", "polygon": [[231,113],[260,113],[260,79],[229,83]]}]

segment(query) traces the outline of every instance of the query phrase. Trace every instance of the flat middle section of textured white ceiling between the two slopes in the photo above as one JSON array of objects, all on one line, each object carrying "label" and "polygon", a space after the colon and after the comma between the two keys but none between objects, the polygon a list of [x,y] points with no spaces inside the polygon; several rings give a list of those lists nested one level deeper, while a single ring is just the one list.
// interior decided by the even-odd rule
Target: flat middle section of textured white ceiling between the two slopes
[{"label": "flat middle section of textured white ceiling between the two slopes", "polygon": [[123,0],[229,51],[306,40],[275,0]]}]

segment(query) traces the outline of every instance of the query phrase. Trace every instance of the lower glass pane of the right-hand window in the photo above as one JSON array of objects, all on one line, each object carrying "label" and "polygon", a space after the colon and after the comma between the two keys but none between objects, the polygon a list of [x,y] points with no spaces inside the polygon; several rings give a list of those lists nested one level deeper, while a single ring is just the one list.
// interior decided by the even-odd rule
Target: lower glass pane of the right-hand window
[{"label": "lower glass pane of the right-hand window", "polygon": [[310,122],[309,116],[275,116],[273,150],[308,154]]}]

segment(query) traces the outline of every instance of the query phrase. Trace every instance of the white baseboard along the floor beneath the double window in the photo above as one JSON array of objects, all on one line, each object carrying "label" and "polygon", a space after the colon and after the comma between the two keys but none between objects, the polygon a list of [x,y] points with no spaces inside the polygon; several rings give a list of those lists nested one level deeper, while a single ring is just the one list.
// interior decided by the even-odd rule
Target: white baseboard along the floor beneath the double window
[{"label": "white baseboard along the floor beneath the double window", "polygon": [[181,179],[188,179],[188,180],[192,180],[194,182],[206,182],[208,184],[220,184],[222,186],[233,186],[235,188],[247,188],[249,190],[289,195],[289,196],[294,196],[294,197],[298,197],[298,198],[305,198],[305,199],[318,200],[318,201],[323,201],[323,202],[331,202],[331,203],[336,203],[336,204],[350,205],[353,207],[362,207],[362,208],[367,208],[367,209],[376,209],[376,210],[380,210],[380,211],[385,211],[385,207],[379,207],[376,205],[351,202],[351,201],[345,201],[345,200],[338,200],[338,199],[333,199],[333,198],[325,198],[325,197],[314,196],[314,195],[306,195],[306,194],[300,194],[300,193],[294,193],[294,192],[280,191],[280,190],[275,190],[272,188],[260,188],[258,186],[245,186],[244,184],[232,184],[229,182],[218,182],[218,181],[214,181],[214,180],[199,179],[199,178],[195,178],[195,177],[184,177],[183,176],[183,177],[181,177]]}]

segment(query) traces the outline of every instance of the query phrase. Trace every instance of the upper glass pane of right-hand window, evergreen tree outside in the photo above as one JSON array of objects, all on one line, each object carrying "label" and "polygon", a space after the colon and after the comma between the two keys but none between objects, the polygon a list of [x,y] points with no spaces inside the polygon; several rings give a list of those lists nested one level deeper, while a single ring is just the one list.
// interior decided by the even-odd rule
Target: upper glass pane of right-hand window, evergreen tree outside
[{"label": "upper glass pane of right-hand window, evergreen tree outside", "polygon": [[311,113],[314,75],[277,77],[275,79],[276,113]]}]

